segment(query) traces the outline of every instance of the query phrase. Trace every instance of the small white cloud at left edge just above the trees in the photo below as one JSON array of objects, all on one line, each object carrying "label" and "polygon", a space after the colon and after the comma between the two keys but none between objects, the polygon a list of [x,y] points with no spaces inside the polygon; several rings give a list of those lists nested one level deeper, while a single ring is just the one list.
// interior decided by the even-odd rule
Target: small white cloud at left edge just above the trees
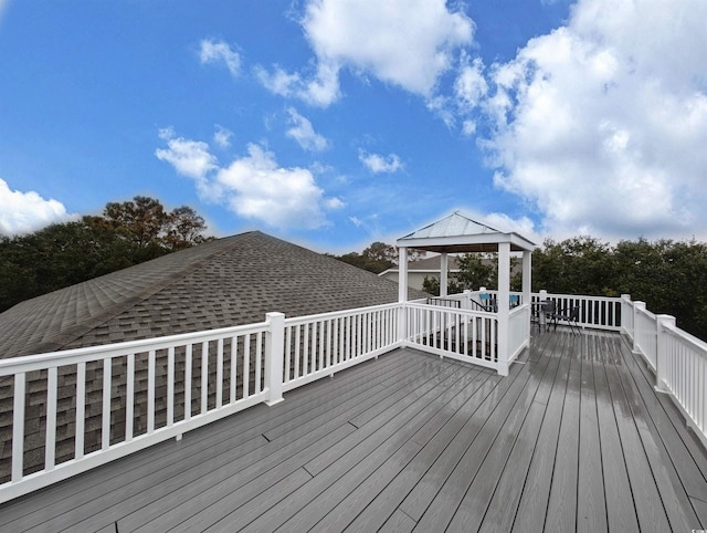
[{"label": "small white cloud at left edge just above the trees", "polygon": [[4,236],[31,233],[75,218],[62,202],[46,200],[35,191],[12,190],[3,179],[0,179],[0,234]]}]

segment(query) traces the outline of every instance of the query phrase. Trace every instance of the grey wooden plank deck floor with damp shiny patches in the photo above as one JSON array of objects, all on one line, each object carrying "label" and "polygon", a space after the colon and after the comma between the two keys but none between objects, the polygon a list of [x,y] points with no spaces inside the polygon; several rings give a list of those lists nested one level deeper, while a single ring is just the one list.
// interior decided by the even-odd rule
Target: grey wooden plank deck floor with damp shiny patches
[{"label": "grey wooden plank deck floor with damp shiny patches", "polygon": [[0,531],[707,527],[707,454],[621,336],[521,359],[395,351],[0,505]]}]

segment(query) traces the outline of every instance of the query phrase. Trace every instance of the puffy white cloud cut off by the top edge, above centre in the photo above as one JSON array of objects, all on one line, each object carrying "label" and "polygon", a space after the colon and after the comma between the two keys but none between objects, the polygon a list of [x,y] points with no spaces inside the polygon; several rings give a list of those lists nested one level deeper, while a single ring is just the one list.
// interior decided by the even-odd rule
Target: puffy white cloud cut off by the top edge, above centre
[{"label": "puffy white cloud cut off by the top edge, above centre", "polygon": [[309,0],[302,25],[316,72],[307,79],[279,67],[256,73],[272,92],[319,106],[340,96],[341,69],[432,97],[474,32],[472,20],[445,0]]}]

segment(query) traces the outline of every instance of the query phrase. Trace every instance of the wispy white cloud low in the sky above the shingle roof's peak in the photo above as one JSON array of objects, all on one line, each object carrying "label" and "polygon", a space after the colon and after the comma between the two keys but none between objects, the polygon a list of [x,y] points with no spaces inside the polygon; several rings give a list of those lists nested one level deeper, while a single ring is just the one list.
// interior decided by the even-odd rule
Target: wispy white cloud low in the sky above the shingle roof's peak
[{"label": "wispy white cloud low in the sky above the shingle roof's peak", "polygon": [[250,144],[247,155],[219,166],[203,142],[175,138],[170,129],[160,137],[168,147],[156,156],[193,178],[201,198],[226,206],[242,218],[261,220],[281,229],[316,229],[326,223],[325,211],[344,202],[327,198],[305,168],[278,166],[275,156]]}]

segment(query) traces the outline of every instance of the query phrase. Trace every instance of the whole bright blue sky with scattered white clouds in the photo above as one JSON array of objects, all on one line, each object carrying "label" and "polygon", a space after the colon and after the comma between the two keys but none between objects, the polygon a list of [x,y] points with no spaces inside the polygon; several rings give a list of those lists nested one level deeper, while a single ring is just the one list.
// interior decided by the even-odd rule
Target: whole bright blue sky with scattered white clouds
[{"label": "whole bright blue sky with scattered white clouds", "polygon": [[0,233],[136,195],[318,251],[707,240],[703,0],[0,0]]}]

